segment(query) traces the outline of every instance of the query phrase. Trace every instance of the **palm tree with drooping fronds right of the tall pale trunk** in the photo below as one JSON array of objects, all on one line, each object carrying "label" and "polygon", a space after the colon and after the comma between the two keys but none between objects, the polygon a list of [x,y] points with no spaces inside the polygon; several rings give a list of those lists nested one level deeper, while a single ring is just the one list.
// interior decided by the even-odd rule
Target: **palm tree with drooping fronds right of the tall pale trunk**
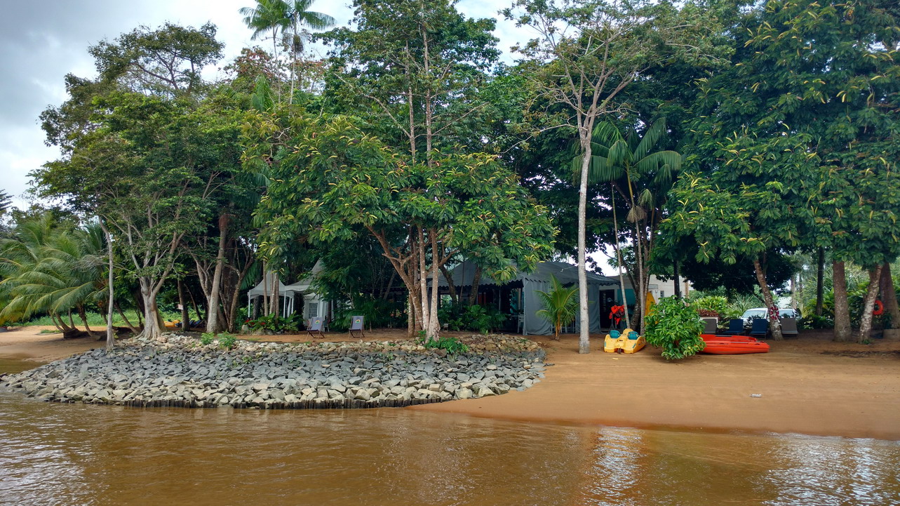
[{"label": "palm tree with drooping fronds right of the tall pale trunk", "polygon": [[[662,221],[662,204],[681,169],[681,155],[672,150],[654,150],[666,133],[665,119],[653,122],[638,135],[634,129],[625,133],[612,122],[600,122],[592,132],[590,182],[608,182],[628,204],[627,221],[635,226],[635,266],[638,276],[640,327],[643,333],[646,305],[644,297],[650,273],[647,261],[653,249],[653,238]],[[581,158],[572,160],[572,167]],[[579,167],[581,168],[581,167]],[[618,249],[618,247],[617,247]]]}]

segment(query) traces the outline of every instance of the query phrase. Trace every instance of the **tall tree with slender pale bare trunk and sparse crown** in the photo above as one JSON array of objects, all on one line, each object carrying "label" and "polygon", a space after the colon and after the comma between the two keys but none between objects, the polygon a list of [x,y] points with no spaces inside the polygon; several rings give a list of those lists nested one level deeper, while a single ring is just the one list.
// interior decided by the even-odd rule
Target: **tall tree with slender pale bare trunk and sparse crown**
[{"label": "tall tree with slender pale bare trunk and sparse crown", "polygon": [[591,135],[599,120],[623,110],[617,95],[666,58],[715,54],[712,10],[688,4],[516,0],[504,15],[537,32],[518,48],[530,61],[536,96],[566,110],[546,119],[550,128],[578,135],[581,148],[578,270],[581,303],[580,353],[590,352],[586,215],[592,156]]}]

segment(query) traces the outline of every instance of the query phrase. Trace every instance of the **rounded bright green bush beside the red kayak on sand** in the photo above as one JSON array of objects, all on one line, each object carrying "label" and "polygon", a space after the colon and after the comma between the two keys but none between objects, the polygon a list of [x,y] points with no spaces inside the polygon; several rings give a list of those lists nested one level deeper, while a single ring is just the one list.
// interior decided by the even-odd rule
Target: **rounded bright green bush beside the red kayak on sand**
[{"label": "rounded bright green bush beside the red kayak on sand", "polygon": [[665,297],[647,315],[647,342],[662,348],[662,357],[676,360],[697,354],[705,346],[703,322],[697,310],[674,295]]}]

